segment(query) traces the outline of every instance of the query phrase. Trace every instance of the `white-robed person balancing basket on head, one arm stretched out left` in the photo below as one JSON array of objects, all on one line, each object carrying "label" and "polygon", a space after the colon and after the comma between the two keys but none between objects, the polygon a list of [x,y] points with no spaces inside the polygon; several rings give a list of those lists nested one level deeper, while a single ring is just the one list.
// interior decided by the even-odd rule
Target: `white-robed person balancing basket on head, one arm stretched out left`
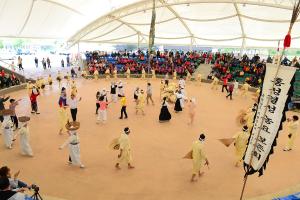
[{"label": "white-robed person balancing basket on head, one arm stretched out left", "polygon": [[80,159],[80,146],[79,146],[79,137],[76,130],[79,129],[79,122],[69,122],[65,125],[69,133],[69,138],[63,143],[59,149],[62,150],[65,146],[69,146],[69,164],[79,166],[84,168],[84,165],[81,163]]}]

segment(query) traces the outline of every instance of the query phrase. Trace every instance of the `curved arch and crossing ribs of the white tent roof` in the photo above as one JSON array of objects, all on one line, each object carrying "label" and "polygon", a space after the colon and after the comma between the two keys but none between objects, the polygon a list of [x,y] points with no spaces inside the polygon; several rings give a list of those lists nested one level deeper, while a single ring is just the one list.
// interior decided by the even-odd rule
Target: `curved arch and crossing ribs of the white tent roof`
[{"label": "curved arch and crossing ribs of the white tent roof", "polygon": [[[254,0],[158,0],[159,3],[156,4],[156,8],[162,8],[162,7],[166,7],[168,8],[173,14],[174,17],[164,20],[164,21],[160,21],[159,23],[163,23],[163,22],[167,22],[167,21],[171,21],[174,19],[179,19],[179,21],[182,23],[182,25],[186,28],[187,32],[189,33],[189,35],[185,36],[185,37],[180,37],[180,39],[182,38],[190,38],[191,41],[193,38],[198,38],[201,40],[207,40],[207,41],[229,41],[229,40],[236,40],[236,39],[251,39],[251,40],[257,40],[257,41],[280,41],[283,40],[282,38],[278,38],[278,39],[261,39],[261,38],[253,38],[253,37],[247,37],[247,35],[245,34],[244,31],[244,27],[243,27],[243,20],[242,18],[248,18],[248,19],[252,19],[252,20],[257,20],[257,21],[262,21],[262,22],[274,22],[274,23],[287,23],[289,22],[288,20],[268,20],[268,19],[260,19],[260,18],[255,18],[255,17],[250,17],[247,15],[242,15],[237,7],[237,4],[249,4],[249,5],[256,5],[256,6],[266,6],[266,7],[273,7],[273,8],[280,8],[280,9],[285,9],[285,10],[292,10],[293,9],[293,2],[290,1],[291,6],[287,6],[287,5],[281,5],[280,3],[276,3],[276,1],[274,0],[274,3],[271,2],[264,2],[264,1],[254,1]],[[182,18],[178,15],[178,13],[176,13],[175,10],[172,9],[171,6],[175,6],[175,5],[182,5],[182,4],[192,4],[192,3],[231,3],[234,4],[235,9],[236,9],[236,14],[235,15],[230,15],[230,16],[226,16],[226,17],[222,17],[222,18],[215,18],[215,19],[189,19],[189,18]],[[128,26],[131,29],[135,29],[133,26],[131,25],[148,25],[148,24],[134,24],[134,23],[127,23],[124,21],[120,21],[121,18],[129,16],[129,15],[133,15],[145,10],[150,10],[152,8],[152,4],[151,1],[148,0],[144,0],[144,1],[140,1],[138,3],[133,3],[130,4],[128,6],[122,7],[120,9],[117,9],[113,12],[110,12],[107,15],[104,15],[102,17],[99,17],[98,19],[96,19],[95,21],[93,21],[92,23],[88,24],[86,27],[84,27],[83,29],[81,29],[80,31],[78,31],[75,35],[73,35],[68,42],[70,43],[70,46],[73,46],[74,44],[78,43],[78,42],[107,42],[106,40],[104,41],[90,41],[90,40],[83,40],[82,38],[84,38],[86,35],[88,35],[89,33],[95,31],[96,29],[109,24],[110,22],[117,20],[123,24],[125,24],[126,26]],[[240,22],[240,27],[242,30],[242,35],[241,37],[235,37],[235,38],[230,38],[230,39],[208,39],[208,38],[201,38],[199,36],[194,36],[194,34],[191,32],[191,30],[189,29],[189,27],[185,24],[184,20],[191,20],[191,21],[200,21],[200,22],[207,22],[207,21],[217,21],[217,20],[223,20],[223,19],[228,19],[228,18],[233,18],[233,17],[238,17],[239,22]],[[298,20],[299,21],[299,20]],[[146,34],[141,34],[138,30],[134,30],[137,35],[142,35],[142,36],[147,36]],[[132,36],[132,35],[131,35]],[[99,36],[100,37],[100,36]],[[99,37],[94,37],[92,39],[95,38],[99,38]],[[124,38],[124,37],[122,37]],[[126,38],[126,37],[125,37]],[[156,37],[159,39],[159,37]],[[300,38],[300,36],[297,36],[295,38]],[[147,40],[145,38],[143,38],[144,41],[146,42]],[[179,38],[161,38],[161,39],[179,39]],[[109,40],[110,42],[115,41],[116,39],[112,39]]]}]

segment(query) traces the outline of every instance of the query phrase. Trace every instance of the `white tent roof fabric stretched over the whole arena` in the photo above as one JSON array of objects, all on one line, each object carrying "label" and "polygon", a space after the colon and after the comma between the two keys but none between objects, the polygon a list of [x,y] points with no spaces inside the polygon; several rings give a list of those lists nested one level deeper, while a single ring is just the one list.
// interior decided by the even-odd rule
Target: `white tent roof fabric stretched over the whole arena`
[{"label": "white tent roof fabric stretched over the whole arena", "polygon": [[[156,0],[155,43],[277,47],[288,30],[294,2]],[[5,27],[0,36],[61,38],[70,45],[147,44],[151,8],[152,0],[0,0],[0,26]],[[292,47],[299,48],[300,19],[292,37]]]}]

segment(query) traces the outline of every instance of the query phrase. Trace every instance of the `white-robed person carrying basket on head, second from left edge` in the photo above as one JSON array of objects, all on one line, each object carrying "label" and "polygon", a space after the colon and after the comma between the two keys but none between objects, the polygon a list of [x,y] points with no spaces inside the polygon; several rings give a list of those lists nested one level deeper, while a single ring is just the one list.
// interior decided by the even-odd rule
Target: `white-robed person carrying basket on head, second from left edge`
[{"label": "white-robed person carrying basket on head, second from left edge", "polygon": [[30,117],[27,116],[19,117],[20,127],[21,127],[21,129],[19,130],[21,154],[25,156],[33,156],[33,152],[29,144],[29,128],[28,128],[29,120]]}]

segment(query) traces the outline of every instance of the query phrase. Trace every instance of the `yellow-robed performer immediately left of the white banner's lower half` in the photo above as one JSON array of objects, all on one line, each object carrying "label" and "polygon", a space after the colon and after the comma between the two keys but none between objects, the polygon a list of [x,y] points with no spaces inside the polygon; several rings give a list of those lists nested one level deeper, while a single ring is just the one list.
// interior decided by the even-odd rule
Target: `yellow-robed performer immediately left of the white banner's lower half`
[{"label": "yellow-robed performer immediately left of the white banner's lower half", "polygon": [[236,163],[235,166],[239,167],[240,163],[243,159],[244,153],[247,148],[248,138],[250,136],[248,132],[248,126],[244,126],[242,131],[239,131],[237,134],[233,136],[234,146],[235,146],[235,155],[236,155]]}]

